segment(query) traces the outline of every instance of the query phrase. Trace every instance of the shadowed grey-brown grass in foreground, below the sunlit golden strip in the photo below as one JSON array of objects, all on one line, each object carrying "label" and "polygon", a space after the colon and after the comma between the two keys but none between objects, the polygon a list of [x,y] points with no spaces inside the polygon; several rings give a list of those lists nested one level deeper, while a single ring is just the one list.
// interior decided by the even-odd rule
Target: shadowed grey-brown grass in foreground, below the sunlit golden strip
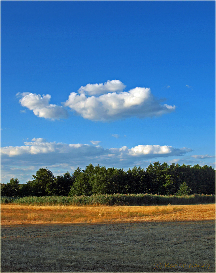
[{"label": "shadowed grey-brown grass in foreground, below the sunlit golden strip", "polygon": [[215,272],[215,221],[1,226],[1,272],[153,271]]}]

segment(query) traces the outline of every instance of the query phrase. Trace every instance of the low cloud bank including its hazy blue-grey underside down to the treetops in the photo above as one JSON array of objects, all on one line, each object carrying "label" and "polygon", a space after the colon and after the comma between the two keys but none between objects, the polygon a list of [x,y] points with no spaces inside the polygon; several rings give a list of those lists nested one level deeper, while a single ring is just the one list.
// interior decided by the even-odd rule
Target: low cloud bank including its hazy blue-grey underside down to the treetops
[{"label": "low cloud bank including its hazy blue-grey underside down to the treetops", "polygon": [[[60,171],[63,174],[77,167],[85,168],[90,163],[106,167],[129,168],[145,165],[149,159],[178,157],[191,151],[188,148],[176,149],[172,146],[159,145],[138,145],[132,148],[122,146],[109,149],[94,145],[56,143],[48,142],[43,138],[33,138],[24,142],[23,146],[3,147],[1,148],[2,183],[8,182],[13,176],[18,177],[21,183],[26,183],[31,179],[32,174],[42,167],[50,168],[56,175]],[[31,168],[28,169],[28,166]],[[6,181],[8,178],[9,180]]]}]

